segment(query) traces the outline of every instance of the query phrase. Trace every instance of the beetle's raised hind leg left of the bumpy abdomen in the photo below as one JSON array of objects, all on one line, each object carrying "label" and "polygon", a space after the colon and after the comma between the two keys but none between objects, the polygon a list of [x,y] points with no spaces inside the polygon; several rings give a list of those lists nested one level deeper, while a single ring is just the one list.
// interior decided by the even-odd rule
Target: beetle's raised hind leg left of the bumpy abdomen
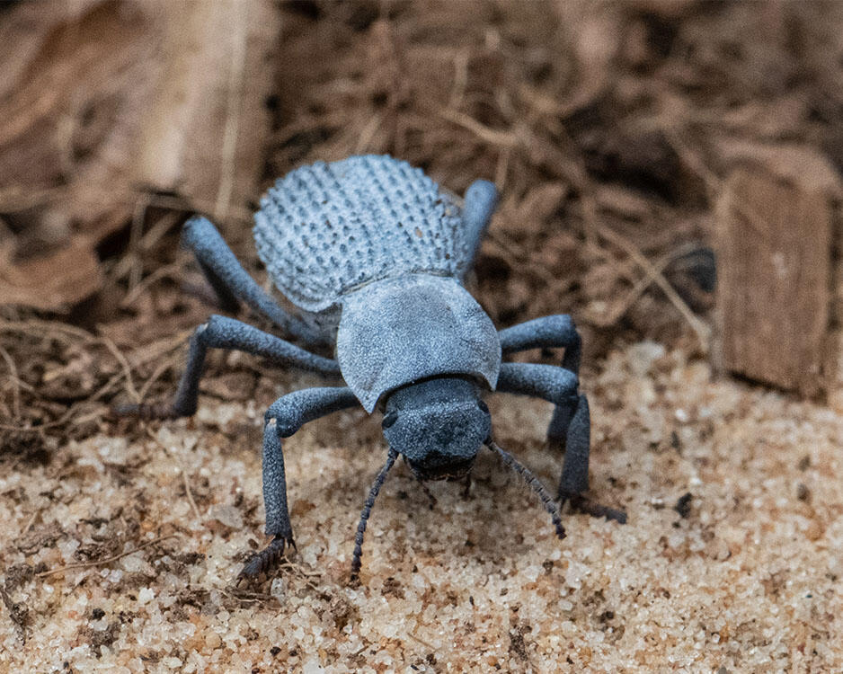
[{"label": "beetle's raised hind leg left of the bumpy abdomen", "polygon": [[297,318],[282,309],[246,273],[235,254],[207,217],[191,217],[182,229],[182,244],[196,256],[205,278],[217,293],[220,305],[234,311],[239,302],[255,313],[266,316],[292,337],[308,344],[324,344],[324,338]]}]

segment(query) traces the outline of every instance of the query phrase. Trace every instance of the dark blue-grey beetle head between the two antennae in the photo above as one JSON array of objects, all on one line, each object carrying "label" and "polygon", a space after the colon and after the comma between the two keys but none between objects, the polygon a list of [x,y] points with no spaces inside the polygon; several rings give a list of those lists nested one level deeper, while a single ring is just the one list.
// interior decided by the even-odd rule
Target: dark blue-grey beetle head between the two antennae
[{"label": "dark blue-grey beetle head between the two antennae", "polygon": [[466,475],[492,420],[474,382],[439,377],[398,389],[384,412],[384,436],[420,480]]}]

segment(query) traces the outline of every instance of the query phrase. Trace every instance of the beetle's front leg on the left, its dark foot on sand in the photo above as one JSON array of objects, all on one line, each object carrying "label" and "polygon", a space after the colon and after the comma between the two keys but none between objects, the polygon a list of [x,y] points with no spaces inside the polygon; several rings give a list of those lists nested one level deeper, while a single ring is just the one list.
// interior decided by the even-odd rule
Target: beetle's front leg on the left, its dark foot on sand
[{"label": "beetle's front leg on the left, its dark foot on sand", "polygon": [[265,415],[263,427],[263,505],[266,535],[272,540],[252,555],[238,574],[238,581],[254,578],[278,566],[288,546],[296,547],[287,505],[287,477],[281,439],[288,438],[307,421],[357,404],[351,389],[342,387],[306,388],[282,395]]}]

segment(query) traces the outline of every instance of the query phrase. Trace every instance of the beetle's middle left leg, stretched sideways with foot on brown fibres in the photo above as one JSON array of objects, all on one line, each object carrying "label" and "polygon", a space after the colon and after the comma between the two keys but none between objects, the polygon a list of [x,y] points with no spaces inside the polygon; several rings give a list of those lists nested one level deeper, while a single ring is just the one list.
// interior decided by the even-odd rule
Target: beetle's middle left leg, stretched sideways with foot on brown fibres
[{"label": "beetle's middle left leg, stretched sideways with foot on brown fibres", "polygon": [[114,408],[114,412],[120,416],[134,415],[142,419],[191,416],[196,412],[199,382],[209,348],[240,350],[325,375],[340,374],[336,360],[317,356],[234,318],[212,315],[208,323],[200,325],[191,337],[187,366],[171,404],[120,405]]}]

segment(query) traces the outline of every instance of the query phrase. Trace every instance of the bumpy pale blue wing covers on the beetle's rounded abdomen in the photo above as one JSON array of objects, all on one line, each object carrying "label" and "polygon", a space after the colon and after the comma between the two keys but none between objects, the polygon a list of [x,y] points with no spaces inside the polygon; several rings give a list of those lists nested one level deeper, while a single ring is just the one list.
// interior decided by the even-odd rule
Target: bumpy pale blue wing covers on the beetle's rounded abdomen
[{"label": "bumpy pale blue wing covers on the beetle's rounded abdomen", "polygon": [[297,168],[266,193],[254,221],[272,280],[308,311],[377,279],[461,277],[471,255],[453,200],[421,169],[390,156]]}]

